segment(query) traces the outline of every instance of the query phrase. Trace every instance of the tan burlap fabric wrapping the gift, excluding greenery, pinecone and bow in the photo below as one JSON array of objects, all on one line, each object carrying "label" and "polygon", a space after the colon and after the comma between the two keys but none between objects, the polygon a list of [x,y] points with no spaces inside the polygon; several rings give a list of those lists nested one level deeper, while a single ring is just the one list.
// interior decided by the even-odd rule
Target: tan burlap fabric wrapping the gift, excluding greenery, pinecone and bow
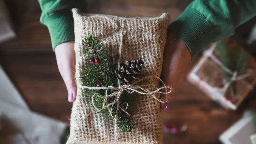
[{"label": "tan burlap fabric wrapping the gift, excluding greenery, pinecone and bow", "polygon": [[[76,80],[85,67],[83,40],[88,34],[97,35],[109,55],[119,53],[121,61],[141,58],[144,76],[160,76],[166,43],[169,14],[155,18],[124,18],[110,15],[82,14],[73,9],[75,21]],[[155,83],[156,86],[158,83]],[[98,114],[83,98],[83,88],[71,113],[71,130],[67,144],[114,144],[114,122]],[[159,98],[160,95],[157,95]],[[160,104],[153,97],[138,95],[138,107],[133,114],[135,126],[131,133],[119,134],[118,144],[160,144],[162,121]]]}]

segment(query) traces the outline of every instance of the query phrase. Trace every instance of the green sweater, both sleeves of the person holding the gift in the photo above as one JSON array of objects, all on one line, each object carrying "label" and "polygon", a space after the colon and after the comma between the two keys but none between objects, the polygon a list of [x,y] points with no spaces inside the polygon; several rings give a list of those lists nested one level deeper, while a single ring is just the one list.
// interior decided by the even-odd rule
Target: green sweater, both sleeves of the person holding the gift
[{"label": "green sweater, both sleeves of the person holding the gift", "polygon": [[[74,40],[72,8],[86,12],[86,0],[39,0],[40,21],[48,27],[53,49]],[[256,15],[256,0],[194,0],[169,29],[187,45],[192,57]]]}]

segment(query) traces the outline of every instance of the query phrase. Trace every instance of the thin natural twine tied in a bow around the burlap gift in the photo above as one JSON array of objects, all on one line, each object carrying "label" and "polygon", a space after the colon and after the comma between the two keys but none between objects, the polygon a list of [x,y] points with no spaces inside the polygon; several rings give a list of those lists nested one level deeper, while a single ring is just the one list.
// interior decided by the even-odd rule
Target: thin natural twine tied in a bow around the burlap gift
[{"label": "thin natural twine tied in a bow around the burlap gift", "polygon": [[[121,61],[121,53],[122,53],[122,44],[123,44],[123,35],[124,35],[124,24],[125,24],[125,19],[122,19],[122,26],[121,26],[121,32],[120,32],[120,45],[119,45],[119,58],[118,58],[118,66],[120,66],[120,61]],[[161,81],[162,83],[162,87],[161,88],[158,88],[154,91],[150,91],[146,88],[146,86],[154,86],[151,81],[149,80],[150,78],[157,78],[158,80]],[[139,82],[143,82],[144,80],[148,80],[148,83],[146,85],[136,85],[138,84]],[[124,110],[122,107],[119,106],[119,103],[120,103],[120,97],[122,95],[122,93],[124,91],[127,91],[129,93],[133,93],[133,92],[137,92],[141,95],[148,95],[148,96],[152,96],[153,98],[155,98],[157,101],[159,101],[160,103],[165,103],[168,101],[168,99],[166,99],[166,101],[162,101],[160,99],[158,99],[154,94],[156,93],[161,93],[161,94],[169,94],[171,93],[172,89],[169,87],[169,86],[166,86],[163,81],[161,80],[161,78],[159,78],[158,76],[147,76],[147,77],[144,77],[142,78],[141,80],[135,82],[135,83],[132,83],[131,85],[121,85],[120,81],[118,80],[118,87],[113,87],[113,86],[108,86],[108,87],[87,87],[87,86],[82,86],[80,83],[77,84],[78,87],[81,87],[81,88],[85,88],[85,89],[105,89],[106,90],[106,95],[105,96],[100,96],[98,93],[95,93],[92,97],[92,103],[93,103],[93,106],[96,110],[98,111],[101,111],[103,109],[108,109],[109,112],[110,112],[110,115],[112,118],[114,118],[115,120],[115,142],[118,143],[118,113],[119,113],[119,109],[124,111],[129,117],[130,117],[130,114],[126,111],[126,109]],[[116,90],[115,92],[111,93],[110,95],[107,95],[107,91],[109,89],[112,89],[112,90]],[[165,89],[165,92],[161,92],[162,89]],[[169,89],[169,90],[168,90]],[[94,104],[94,98],[98,96],[98,97],[101,97],[101,98],[104,98],[104,101],[103,101],[103,105],[102,105],[102,108],[101,109],[98,109],[95,104]],[[115,97],[114,101],[111,102],[111,103],[107,103],[107,100],[108,98],[111,98],[111,97]],[[105,104],[106,103],[106,104]],[[112,114],[112,110],[113,110],[113,106],[114,104],[117,104],[117,109],[116,109],[116,113],[115,113],[115,116]]]}]

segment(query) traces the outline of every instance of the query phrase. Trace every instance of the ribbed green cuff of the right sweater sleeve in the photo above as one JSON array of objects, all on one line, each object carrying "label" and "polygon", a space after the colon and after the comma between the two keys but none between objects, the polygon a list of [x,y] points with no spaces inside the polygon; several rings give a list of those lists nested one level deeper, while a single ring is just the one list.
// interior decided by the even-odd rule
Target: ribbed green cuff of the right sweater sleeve
[{"label": "ribbed green cuff of the right sweater sleeve", "polygon": [[197,10],[189,8],[168,29],[187,45],[192,58],[218,37],[218,31],[214,30],[210,21]]}]

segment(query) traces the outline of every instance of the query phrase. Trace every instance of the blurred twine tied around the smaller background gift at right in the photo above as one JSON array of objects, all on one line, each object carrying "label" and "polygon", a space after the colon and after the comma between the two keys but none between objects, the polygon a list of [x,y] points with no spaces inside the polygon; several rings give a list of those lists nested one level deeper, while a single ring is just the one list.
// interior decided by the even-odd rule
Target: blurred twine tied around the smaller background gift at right
[{"label": "blurred twine tied around the smaller background gift at right", "polygon": [[[231,85],[231,83],[235,82],[235,81],[240,81],[242,84],[244,84],[246,87],[248,87],[249,89],[253,89],[253,86],[249,83],[247,83],[246,81],[244,81],[243,79],[251,76],[253,74],[253,70],[251,69],[247,69],[245,74],[242,75],[238,75],[237,71],[232,71],[230,70],[228,67],[226,67],[221,61],[218,60],[218,58],[216,58],[213,55],[213,51],[214,48],[211,48],[209,50],[205,50],[203,52],[203,55],[210,57],[216,64],[218,64],[218,66],[220,66],[224,71],[228,72],[229,74],[232,75],[232,77],[230,78],[230,80],[228,82],[225,82],[224,87],[222,89],[220,89],[221,92],[225,92],[226,89]],[[231,90],[231,96],[234,96],[234,91]]]}]

